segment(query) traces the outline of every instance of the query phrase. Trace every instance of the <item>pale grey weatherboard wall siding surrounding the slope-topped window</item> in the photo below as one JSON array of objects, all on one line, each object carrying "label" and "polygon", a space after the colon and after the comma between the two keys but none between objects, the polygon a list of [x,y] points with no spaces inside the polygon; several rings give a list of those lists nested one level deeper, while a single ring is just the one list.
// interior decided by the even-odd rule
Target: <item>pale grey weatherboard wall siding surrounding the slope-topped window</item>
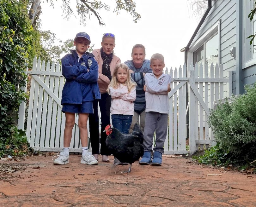
[{"label": "pale grey weatherboard wall siding surrounding the slope-topped window", "polygon": [[232,91],[235,91],[235,60],[231,58],[230,48],[236,46],[236,0],[212,1],[212,8],[199,29],[192,44],[197,41],[212,25],[220,20],[220,62],[224,69],[224,78],[232,70]]}]

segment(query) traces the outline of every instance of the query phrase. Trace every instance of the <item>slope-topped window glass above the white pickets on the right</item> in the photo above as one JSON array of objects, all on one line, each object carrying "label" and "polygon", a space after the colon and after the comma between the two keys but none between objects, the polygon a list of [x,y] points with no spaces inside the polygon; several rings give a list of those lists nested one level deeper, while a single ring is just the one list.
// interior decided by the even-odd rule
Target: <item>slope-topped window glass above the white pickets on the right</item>
[{"label": "slope-topped window glass above the white pickets on the right", "polygon": [[197,62],[198,66],[200,65],[200,63],[205,66],[207,62],[210,71],[211,63],[213,63],[213,65],[215,66],[218,62],[218,45],[218,34],[215,34],[212,38],[204,42],[199,49],[193,52],[193,64],[195,65],[195,63]]}]

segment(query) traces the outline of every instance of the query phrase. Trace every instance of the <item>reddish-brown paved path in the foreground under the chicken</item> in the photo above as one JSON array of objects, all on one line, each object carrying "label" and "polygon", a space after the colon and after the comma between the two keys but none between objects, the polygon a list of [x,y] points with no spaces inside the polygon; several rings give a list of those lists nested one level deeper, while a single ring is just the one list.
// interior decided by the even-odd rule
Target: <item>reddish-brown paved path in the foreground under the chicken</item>
[{"label": "reddish-brown paved path in the foreground under the chicken", "polygon": [[[0,161],[16,166],[1,173],[1,207],[256,207],[256,175],[201,166],[184,157],[164,156],[163,165],[133,164],[112,168],[110,163],[53,165],[50,156],[23,162]],[[99,156],[101,160],[101,156]],[[22,170],[23,168],[23,170]],[[219,174],[219,176],[209,176]]]}]

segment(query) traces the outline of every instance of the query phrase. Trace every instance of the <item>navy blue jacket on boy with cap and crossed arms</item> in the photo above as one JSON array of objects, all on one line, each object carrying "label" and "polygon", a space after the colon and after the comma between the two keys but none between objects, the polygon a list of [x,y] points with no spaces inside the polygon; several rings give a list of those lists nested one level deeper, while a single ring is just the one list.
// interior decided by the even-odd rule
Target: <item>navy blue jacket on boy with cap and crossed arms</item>
[{"label": "navy blue jacket on boy with cap and crossed arms", "polygon": [[61,59],[62,75],[66,78],[61,104],[82,104],[83,101],[101,99],[97,83],[98,63],[94,55],[86,52],[78,62],[76,50],[70,52]]}]

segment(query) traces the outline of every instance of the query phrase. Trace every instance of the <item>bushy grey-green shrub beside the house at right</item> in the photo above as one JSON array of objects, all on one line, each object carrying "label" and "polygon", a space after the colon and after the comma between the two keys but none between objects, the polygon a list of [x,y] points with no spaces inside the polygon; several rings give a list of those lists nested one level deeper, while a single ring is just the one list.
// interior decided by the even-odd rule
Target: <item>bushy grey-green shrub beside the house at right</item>
[{"label": "bushy grey-green shrub beside the house at right", "polygon": [[[228,153],[237,164],[247,164],[256,159],[256,83],[245,89],[247,94],[232,103],[226,101],[217,106],[216,110],[210,111],[209,117],[209,126],[219,143],[216,157]],[[211,158],[212,151],[207,153],[205,156]]]}]

